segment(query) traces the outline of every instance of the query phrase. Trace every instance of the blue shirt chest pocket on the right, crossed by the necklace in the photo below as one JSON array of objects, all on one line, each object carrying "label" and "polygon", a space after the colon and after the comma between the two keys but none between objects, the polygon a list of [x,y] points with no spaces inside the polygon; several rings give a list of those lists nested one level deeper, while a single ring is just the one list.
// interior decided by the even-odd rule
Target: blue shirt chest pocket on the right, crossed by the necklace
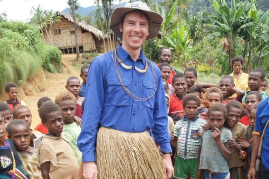
[{"label": "blue shirt chest pocket on the right, crossed by the necklace", "polygon": [[143,92],[142,92],[142,98],[143,99],[147,99],[145,101],[142,102],[142,105],[144,107],[150,107],[150,108],[154,108],[154,99],[155,99],[155,88],[156,86],[154,86],[154,83],[151,81],[146,81],[143,80]]}]

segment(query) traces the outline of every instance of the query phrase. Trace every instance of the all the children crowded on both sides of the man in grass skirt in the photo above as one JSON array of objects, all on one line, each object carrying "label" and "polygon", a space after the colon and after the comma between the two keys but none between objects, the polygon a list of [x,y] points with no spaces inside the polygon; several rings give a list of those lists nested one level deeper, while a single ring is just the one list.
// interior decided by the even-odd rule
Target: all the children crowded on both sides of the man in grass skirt
[{"label": "all the children crowded on both sides of the man in grass skirt", "polygon": [[[77,138],[88,68],[81,68],[82,84],[77,77],[67,79],[67,91],[55,102],[49,97],[38,100],[41,123],[35,130],[30,129],[30,109],[17,98],[16,84],[6,85],[9,99],[0,103],[1,176],[75,178],[82,156]],[[235,87],[232,75],[223,76],[219,85],[197,83],[196,69],[188,67],[170,84],[170,65],[161,63],[159,69],[167,93],[174,177],[246,178],[255,113],[268,86],[264,71],[250,72],[248,84],[241,85],[249,87],[245,91]]]}]

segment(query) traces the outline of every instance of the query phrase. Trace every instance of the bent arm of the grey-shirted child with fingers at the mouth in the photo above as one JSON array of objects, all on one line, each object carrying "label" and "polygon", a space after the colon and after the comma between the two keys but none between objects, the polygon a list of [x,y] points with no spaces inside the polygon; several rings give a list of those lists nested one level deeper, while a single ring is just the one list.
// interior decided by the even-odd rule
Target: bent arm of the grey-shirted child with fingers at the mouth
[{"label": "bent arm of the grey-shirted child with fingers at the mouth", "polygon": [[214,128],[214,131],[212,132],[212,137],[214,141],[218,144],[222,155],[229,160],[231,158],[231,148],[228,143],[224,145],[221,141],[221,131],[218,128]]}]

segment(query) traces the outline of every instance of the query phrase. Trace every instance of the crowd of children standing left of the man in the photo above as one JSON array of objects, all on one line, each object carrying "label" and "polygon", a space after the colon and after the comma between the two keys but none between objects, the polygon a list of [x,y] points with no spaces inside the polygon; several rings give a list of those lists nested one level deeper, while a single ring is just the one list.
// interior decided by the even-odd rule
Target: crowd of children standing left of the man
[{"label": "crowd of children standing left of the man", "polygon": [[[66,92],[53,102],[37,102],[41,123],[31,130],[32,114],[18,99],[15,83],[6,84],[8,100],[0,102],[0,178],[75,178],[82,153],[77,147],[89,65],[81,78],[69,77]],[[84,93],[81,93],[81,87]]]}]

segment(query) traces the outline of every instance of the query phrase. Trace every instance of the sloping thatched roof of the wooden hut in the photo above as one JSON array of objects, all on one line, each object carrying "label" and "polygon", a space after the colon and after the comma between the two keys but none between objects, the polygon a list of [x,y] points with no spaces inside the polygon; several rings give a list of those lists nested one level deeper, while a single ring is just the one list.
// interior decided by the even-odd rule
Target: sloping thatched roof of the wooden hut
[{"label": "sloping thatched roof of the wooden hut", "polygon": [[[68,19],[69,21],[73,22],[73,17],[70,15],[67,15],[65,13],[62,13],[60,11],[55,12],[58,16],[63,16],[64,18]],[[91,33],[93,33],[97,38],[102,38],[102,31],[96,29],[95,27],[92,27],[91,25],[87,24],[84,21],[77,21],[77,25],[81,27],[82,29],[85,29]]]}]

